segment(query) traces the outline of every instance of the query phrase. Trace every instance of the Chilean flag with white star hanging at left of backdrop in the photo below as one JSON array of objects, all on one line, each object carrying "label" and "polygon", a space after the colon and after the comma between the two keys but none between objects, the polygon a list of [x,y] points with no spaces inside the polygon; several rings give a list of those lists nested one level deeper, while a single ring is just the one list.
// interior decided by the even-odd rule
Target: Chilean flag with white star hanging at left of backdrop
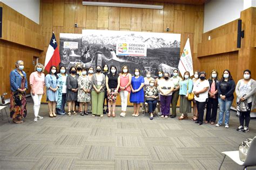
[{"label": "Chilean flag with white star hanging at left of backdrop", "polygon": [[50,44],[48,46],[48,50],[45,56],[45,62],[44,62],[45,70],[50,72],[50,67],[52,65],[58,66],[59,63],[60,63],[59,49],[58,49],[55,35],[52,32]]}]

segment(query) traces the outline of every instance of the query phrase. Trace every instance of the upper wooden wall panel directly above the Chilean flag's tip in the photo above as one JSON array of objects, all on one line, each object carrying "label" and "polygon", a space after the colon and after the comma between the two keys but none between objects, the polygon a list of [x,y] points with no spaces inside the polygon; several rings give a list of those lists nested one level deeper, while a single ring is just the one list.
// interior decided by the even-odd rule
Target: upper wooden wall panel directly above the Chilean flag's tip
[{"label": "upper wooden wall panel directly above the Chilean flag's tip", "polygon": [[64,25],[64,1],[53,1],[52,26]]}]

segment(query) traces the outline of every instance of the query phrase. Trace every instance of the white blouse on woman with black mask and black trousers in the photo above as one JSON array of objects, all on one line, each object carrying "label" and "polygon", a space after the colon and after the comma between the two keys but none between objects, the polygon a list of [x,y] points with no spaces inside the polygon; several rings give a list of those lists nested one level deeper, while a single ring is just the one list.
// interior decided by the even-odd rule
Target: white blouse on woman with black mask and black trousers
[{"label": "white blouse on woman with black mask and black trousers", "polygon": [[[194,87],[193,87],[193,91],[201,91],[203,90],[205,87],[210,87],[209,81],[208,80],[204,80],[201,81],[200,79],[198,79],[195,83],[194,83]],[[196,95],[194,96],[194,100],[199,101],[199,102],[204,102],[206,101],[206,99],[208,98],[208,90],[204,93],[200,93],[199,97],[196,97]]]}]

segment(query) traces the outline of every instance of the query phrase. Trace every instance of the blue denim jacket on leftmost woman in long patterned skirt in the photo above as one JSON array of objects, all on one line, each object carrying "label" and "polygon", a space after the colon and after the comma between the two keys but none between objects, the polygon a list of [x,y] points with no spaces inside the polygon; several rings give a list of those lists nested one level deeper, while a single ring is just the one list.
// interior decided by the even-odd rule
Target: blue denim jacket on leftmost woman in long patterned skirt
[{"label": "blue denim jacket on leftmost woman in long patterned skirt", "polygon": [[[22,71],[22,74],[25,77],[25,88],[28,90],[28,80],[26,79],[26,73]],[[21,89],[22,76],[18,73],[17,69],[12,70],[10,73],[10,85],[11,91],[15,92],[18,88]]]}]

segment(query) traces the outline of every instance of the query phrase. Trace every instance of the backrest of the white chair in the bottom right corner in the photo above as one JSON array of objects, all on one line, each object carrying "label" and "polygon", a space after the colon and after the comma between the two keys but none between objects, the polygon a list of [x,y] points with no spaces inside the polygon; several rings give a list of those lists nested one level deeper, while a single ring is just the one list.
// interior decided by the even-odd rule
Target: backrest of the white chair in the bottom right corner
[{"label": "backrest of the white chair in the bottom right corner", "polygon": [[244,166],[256,165],[256,137],[253,138],[251,145],[248,149]]}]

